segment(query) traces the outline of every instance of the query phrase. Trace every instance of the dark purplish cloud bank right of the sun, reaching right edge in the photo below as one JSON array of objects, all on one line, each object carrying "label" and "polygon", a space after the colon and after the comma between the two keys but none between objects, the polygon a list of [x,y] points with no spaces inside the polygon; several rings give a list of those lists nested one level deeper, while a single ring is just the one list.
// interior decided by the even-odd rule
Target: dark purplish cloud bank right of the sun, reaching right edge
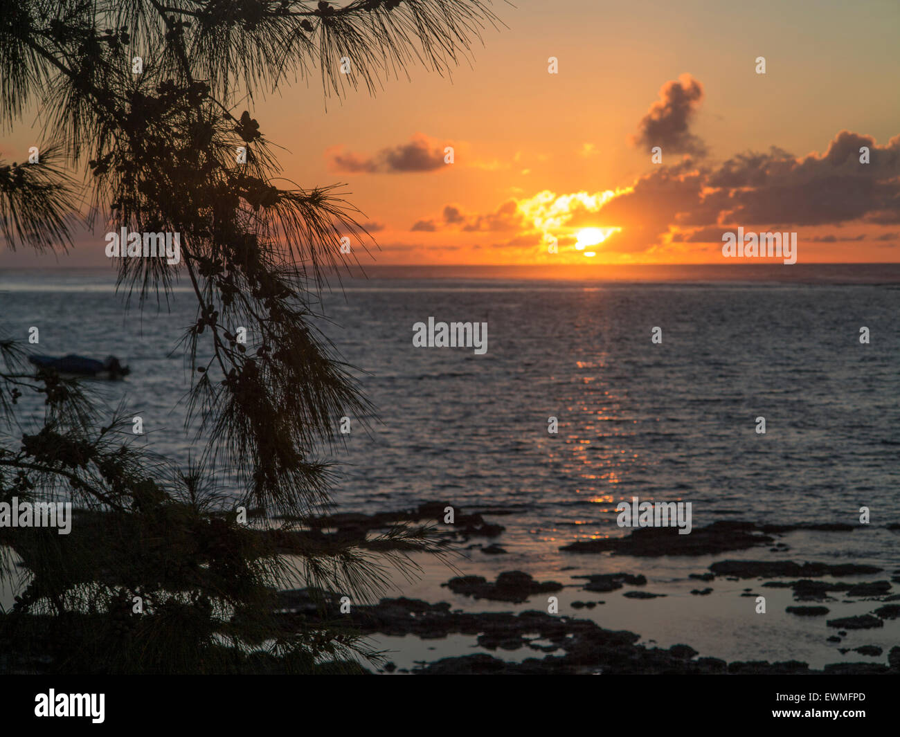
[{"label": "dark purplish cloud bank right of the sun, reaching right edge", "polygon": [[[869,148],[869,164],[860,163],[862,147]],[[739,225],[768,231],[900,222],[900,136],[878,146],[871,136],[842,130],[824,153],[802,158],[773,147],[768,153],[739,154],[717,167],[689,160],[659,166],[598,212],[573,212],[566,225],[598,220],[623,227],[607,244],[622,252],[659,246],[673,230],[673,243],[698,243],[721,242],[723,232]],[[807,240],[866,238],[833,234]]]}]

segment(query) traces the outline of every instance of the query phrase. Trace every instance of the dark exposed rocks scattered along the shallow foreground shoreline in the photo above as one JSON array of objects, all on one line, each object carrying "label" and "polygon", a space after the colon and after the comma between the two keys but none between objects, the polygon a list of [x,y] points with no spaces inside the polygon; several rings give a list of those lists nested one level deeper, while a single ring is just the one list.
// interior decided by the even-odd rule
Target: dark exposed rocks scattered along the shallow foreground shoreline
[{"label": "dark exposed rocks scattered along the shallow foreground shoreline", "polygon": [[[377,515],[336,515],[320,518],[319,530],[330,528],[338,535],[365,537],[371,531],[401,521],[427,520],[445,527],[456,545],[469,542],[473,536],[497,537],[503,527],[487,522],[482,513],[466,514],[455,509],[455,526],[444,526],[440,516],[446,507],[443,502],[421,505],[407,512]],[[491,514],[509,510],[491,509]],[[487,514],[487,512],[485,512]],[[812,531],[851,533],[851,525],[756,525],[743,521],[719,521],[696,527],[690,535],[678,535],[670,528],[639,528],[629,535],[576,541],[560,546],[563,553],[606,553],[613,556],[653,558],[660,556],[704,556],[766,548],[769,553],[785,554],[788,544],[778,537],[792,532]],[[887,526],[896,532],[900,526]],[[476,545],[469,545],[473,549]],[[491,544],[482,553],[503,554],[500,545]],[[608,560],[608,559],[607,559]],[[864,580],[860,578],[866,577]],[[842,578],[853,578],[846,581]],[[707,597],[715,590],[715,581],[753,581],[754,587],[743,589],[742,597],[757,597],[765,588],[791,589],[797,606],[787,607],[788,615],[819,623],[831,630],[823,641],[841,643],[849,631],[882,628],[886,622],[900,618],[900,594],[894,594],[893,584],[900,583],[900,569],[888,573],[875,565],[858,563],[797,562],[777,560],[719,560],[707,571],[689,574],[689,579],[703,581],[701,588],[690,594]],[[826,580],[827,579],[827,580]],[[447,580],[442,586],[473,602],[486,600],[521,605],[534,598],[540,610],[518,612],[471,612],[446,602],[429,603],[418,598],[383,598],[372,606],[355,606],[349,615],[360,634],[403,637],[415,635],[433,641],[451,635],[468,635],[484,650],[534,652],[534,657],[509,661],[486,652],[446,657],[433,662],[419,662],[415,667],[398,669],[392,663],[383,672],[412,672],[419,674],[447,673],[677,673],[677,674],[879,674],[900,673],[900,646],[883,648],[874,644],[839,648],[839,651],[859,652],[867,657],[883,657],[885,662],[839,662],[824,665],[821,670],[810,668],[806,662],[788,661],[732,661],[698,657],[689,644],[675,644],[669,648],[639,644],[641,635],[626,630],[609,630],[590,619],[566,614],[548,614],[545,601],[563,589],[579,589],[587,596],[570,602],[571,609],[594,609],[607,603],[591,594],[626,598],[665,597],[665,589],[647,590],[648,580],[642,573],[604,572],[572,575],[573,582],[535,580],[525,571],[502,571],[495,580],[484,576],[465,575]],[[653,588],[653,587],[652,587]],[[623,590],[626,589],[626,590]],[[763,589],[760,593],[760,589]],[[866,614],[835,616],[829,602],[858,604],[872,601]],[[324,602],[324,603],[323,603]],[[880,606],[877,606],[877,604]],[[281,615],[299,625],[310,619],[337,616],[337,598],[321,598],[307,589],[282,592]],[[653,641],[651,641],[653,642]],[[671,642],[671,641],[670,641]],[[885,652],[887,650],[887,653]]]}]

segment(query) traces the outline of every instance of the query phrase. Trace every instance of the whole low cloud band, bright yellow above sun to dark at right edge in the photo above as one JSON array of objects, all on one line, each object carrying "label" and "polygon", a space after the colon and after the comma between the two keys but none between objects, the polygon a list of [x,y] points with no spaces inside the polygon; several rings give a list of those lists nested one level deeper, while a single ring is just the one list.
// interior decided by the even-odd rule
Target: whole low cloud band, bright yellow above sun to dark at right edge
[{"label": "whole low cloud band, bright yellow above sun to dark at right edge", "polygon": [[[869,148],[869,164],[860,163],[860,148]],[[563,219],[555,211],[563,202]],[[521,207],[520,207],[521,205]],[[535,208],[537,207],[537,211]],[[530,213],[526,216],[525,213]],[[533,218],[532,216],[540,217]],[[842,130],[824,153],[797,158],[780,148],[747,152],[725,163],[700,164],[686,157],[673,166],[654,166],[614,196],[587,193],[538,193],[530,199],[510,199],[493,212],[464,212],[446,205],[441,218],[420,220],[417,229],[458,229],[464,232],[512,231],[492,247],[528,247],[552,234],[562,247],[566,234],[581,228],[620,229],[602,246],[610,253],[653,252],[673,244],[721,243],[725,232],[744,229],[797,230],[812,226],[841,232],[811,234],[807,242],[837,243],[878,240],[892,242],[896,229],[884,235],[860,228],[900,222],[900,136],[878,146],[871,136]]]}]

